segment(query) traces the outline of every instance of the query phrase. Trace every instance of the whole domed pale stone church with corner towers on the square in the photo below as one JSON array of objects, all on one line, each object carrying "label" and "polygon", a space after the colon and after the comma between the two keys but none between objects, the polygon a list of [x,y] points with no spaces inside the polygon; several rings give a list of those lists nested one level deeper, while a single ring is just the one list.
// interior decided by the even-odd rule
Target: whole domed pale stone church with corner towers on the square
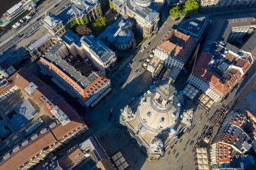
[{"label": "whole domed pale stone church with corner towers on the square", "polygon": [[[183,97],[170,83],[145,93],[135,108],[121,110],[120,124],[127,127],[132,138],[147,152],[149,160],[164,156],[164,149],[173,145],[173,138],[185,124],[181,123],[180,110]],[[177,139],[177,138],[176,138]]]}]

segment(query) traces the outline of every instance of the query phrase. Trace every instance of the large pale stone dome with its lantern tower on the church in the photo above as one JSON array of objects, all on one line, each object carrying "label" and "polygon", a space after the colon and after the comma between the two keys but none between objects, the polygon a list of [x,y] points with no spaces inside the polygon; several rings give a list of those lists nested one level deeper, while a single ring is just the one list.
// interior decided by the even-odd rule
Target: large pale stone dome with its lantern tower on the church
[{"label": "large pale stone dome with its lantern tower on the church", "polygon": [[180,113],[180,101],[175,93],[175,88],[166,83],[159,86],[154,93],[142,97],[137,114],[145,129],[166,132],[175,126]]}]

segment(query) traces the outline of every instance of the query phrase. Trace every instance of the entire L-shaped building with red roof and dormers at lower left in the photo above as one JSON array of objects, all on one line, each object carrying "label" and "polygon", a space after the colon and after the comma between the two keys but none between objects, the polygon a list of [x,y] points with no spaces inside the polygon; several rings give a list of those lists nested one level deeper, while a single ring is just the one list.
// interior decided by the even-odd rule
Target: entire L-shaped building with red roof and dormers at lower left
[{"label": "entire L-shaped building with red roof and dormers at lower left", "polygon": [[8,81],[22,90],[53,121],[1,157],[1,169],[31,169],[49,153],[88,131],[79,114],[28,70],[20,69]]}]

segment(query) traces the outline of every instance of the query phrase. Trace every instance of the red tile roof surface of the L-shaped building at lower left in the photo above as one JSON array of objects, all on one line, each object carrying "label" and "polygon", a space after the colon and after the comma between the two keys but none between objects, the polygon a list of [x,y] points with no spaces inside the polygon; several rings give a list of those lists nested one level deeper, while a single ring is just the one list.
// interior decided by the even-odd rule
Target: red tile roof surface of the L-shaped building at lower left
[{"label": "red tile roof surface of the L-shaped building at lower left", "polygon": [[[63,139],[63,136],[67,136],[68,133],[76,131],[81,126],[86,126],[83,119],[79,117],[78,113],[68,106],[58,94],[51,90],[50,87],[45,85],[43,81],[31,74],[27,69],[20,69],[13,74],[9,81],[15,83],[20,90],[25,92],[38,106],[40,106],[50,117],[52,117],[51,108],[58,106],[67,116],[70,118],[70,122],[66,125],[56,124],[56,127],[52,127],[51,131],[47,127],[47,132],[41,134],[38,132],[38,138],[33,141],[29,139],[29,143],[26,146],[20,145],[20,150],[17,153],[11,152],[11,157],[7,160],[2,159],[0,169],[18,169],[24,163],[28,162],[29,159],[38,155],[41,150],[47,146],[51,146],[58,140]],[[35,83],[37,88],[33,94],[29,94],[25,88],[29,83]],[[46,101],[42,101],[41,96],[44,96],[46,101],[52,104],[52,106],[45,106]]]}]

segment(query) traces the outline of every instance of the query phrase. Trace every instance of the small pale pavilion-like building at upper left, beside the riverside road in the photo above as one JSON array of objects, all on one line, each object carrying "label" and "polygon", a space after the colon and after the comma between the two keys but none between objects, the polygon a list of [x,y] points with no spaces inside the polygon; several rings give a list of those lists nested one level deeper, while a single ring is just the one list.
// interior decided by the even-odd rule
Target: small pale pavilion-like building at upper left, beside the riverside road
[{"label": "small pale pavilion-like building at upper left, beside the riverside road", "polygon": [[62,36],[66,31],[65,25],[63,25],[62,21],[52,13],[47,15],[42,22],[44,23],[44,27],[52,34],[52,36]]}]

